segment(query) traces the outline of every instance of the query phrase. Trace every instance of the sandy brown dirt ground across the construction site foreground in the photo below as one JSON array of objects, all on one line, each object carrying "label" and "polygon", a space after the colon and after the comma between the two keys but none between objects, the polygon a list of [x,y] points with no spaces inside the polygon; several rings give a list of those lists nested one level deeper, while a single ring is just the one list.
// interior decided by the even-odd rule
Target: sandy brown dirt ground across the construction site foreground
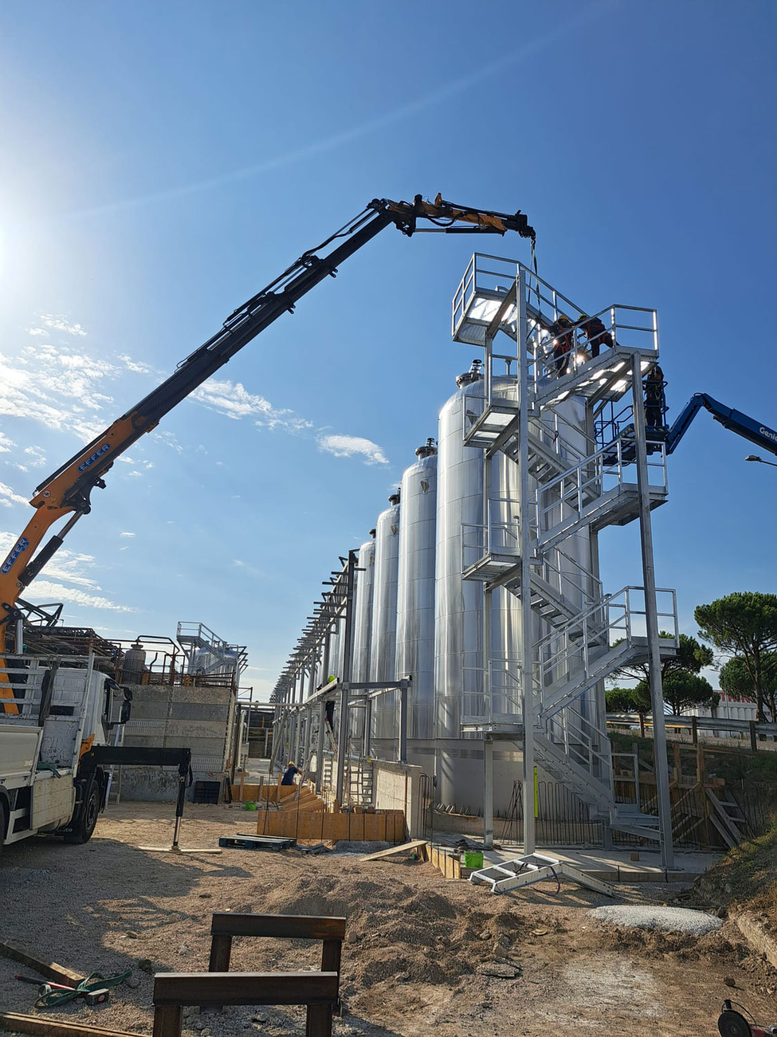
[{"label": "sandy brown dirt ground across the construction site foreground", "polygon": [[[777,1022],[777,975],[753,958],[735,926],[701,938],[604,928],[586,909],[606,898],[563,886],[493,896],[445,880],[431,864],[361,854],[227,850],[220,856],[145,852],[169,844],[172,805],[126,804],[100,817],[92,840],[38,838],[0,858],[0,938],[83,973],[133,969],[109,1004],[62,1006],[63,1018],[150,1034],[154,972],[207,969],[213,910],[345,915],[338,1035],[501,1035],[606,1032],[702,1037],[717,1033],[723,998]],[[252,831],[237,809],[186,806],[181,845],[213,847]],[[666,902],[677,887],[620,887],[626,902]],[[236,940],[233,970],[319,965],[320,944]],[[484,975],[512,965],[512,978]],[[29,970],[0,958],[0,1004],[28,1012]],[[726,985],[736,983],[736,988]],[[188,1010],[188,1037],[305,1032],[301,1010]]]}]

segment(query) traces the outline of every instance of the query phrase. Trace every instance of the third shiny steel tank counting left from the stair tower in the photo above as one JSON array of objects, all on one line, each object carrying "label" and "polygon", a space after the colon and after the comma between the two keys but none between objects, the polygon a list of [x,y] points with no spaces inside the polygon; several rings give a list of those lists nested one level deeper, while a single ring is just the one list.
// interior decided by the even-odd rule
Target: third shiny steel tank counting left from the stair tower
[{"label": "third shiny steel tank counting left from the stair tower", "polygon": [[[400,494],[392,494],[388,507],[375,524],[375,566],[372,598],[372,647],[370,680],[396,680],[397,579],[399,574]],[[379,695],[373,703],[373,751],[381,759],[393,759],[396,692]]]}]

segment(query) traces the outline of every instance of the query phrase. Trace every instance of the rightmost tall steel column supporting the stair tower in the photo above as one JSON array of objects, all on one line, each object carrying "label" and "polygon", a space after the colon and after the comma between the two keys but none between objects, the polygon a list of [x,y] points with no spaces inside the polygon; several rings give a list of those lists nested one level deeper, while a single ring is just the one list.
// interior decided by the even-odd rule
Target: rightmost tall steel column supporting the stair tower
[{"label": "rightmost tall steel column supporting the stair tower", "polygon": [[661,646],[656,604],[656,569],[653,558],[653,527],[651,524],[651,496],[648,472],[648,444],[644,431],[644,398],[642,396],[641,357],[631,358],[632,393],[634,395],[634,436],[637,458],[637,491],[639,494],[639,535],[642,542],[642,579],[644,582],[644,611],[648,622],[648,651],[650,654],[651,704],[653,708],[653,749],[656,762],[658,789],[658,816],[661,833],[661,864],[674,866],[671,837],[671,798],[669,795],[669,768],[666,760],[666,728],[664,726],[664,693],[661,681]]}]

